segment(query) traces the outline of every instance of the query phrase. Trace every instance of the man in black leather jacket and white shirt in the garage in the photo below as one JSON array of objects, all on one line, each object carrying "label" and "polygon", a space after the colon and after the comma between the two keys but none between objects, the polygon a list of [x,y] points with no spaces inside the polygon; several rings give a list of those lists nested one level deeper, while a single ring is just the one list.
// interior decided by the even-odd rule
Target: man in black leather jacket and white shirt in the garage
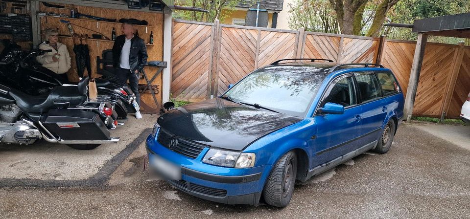
[{"label": "man in black leather jacket and white shirt in the garage", "polygon": [[[139,72],[147,64],[147,47],[141,38],[134,35],[134,26],[131,23],[122,23],[121,31],[123,35],[116,38],[113,46],[115,74],[123,82],[129,79],[137,103],[140,104]],[[136,118],[142,118],[140,112],[136,112]]]}]

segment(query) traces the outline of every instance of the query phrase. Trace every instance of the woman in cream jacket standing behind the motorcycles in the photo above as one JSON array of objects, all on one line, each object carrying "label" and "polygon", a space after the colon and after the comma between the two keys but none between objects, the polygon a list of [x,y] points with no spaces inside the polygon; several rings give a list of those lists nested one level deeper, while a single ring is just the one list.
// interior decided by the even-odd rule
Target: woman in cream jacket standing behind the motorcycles
[{"label": "woman in cream jacket standing behind the motorcycles", "polygon": [[69,50],[67,50],[66,45],[57,42],[59,34],[56,29],[48,28],[46,38],[49,43],[43,43],[39,45],[39,48],[43,50],[52,49],[52,52],[47,52],[44,56],[38,56],[36,60],[44,67],[58,74],[63,82],[67,83],[69,81],[67,71],[71,67]]}]

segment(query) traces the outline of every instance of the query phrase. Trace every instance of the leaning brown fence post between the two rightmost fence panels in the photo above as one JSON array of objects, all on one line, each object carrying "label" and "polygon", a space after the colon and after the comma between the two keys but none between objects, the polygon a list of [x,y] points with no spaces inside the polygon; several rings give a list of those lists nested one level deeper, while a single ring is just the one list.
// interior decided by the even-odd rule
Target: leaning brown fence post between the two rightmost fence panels
[{"label": "leaning brown fence post between the two rightmost fence panels", "polygon": [[460,66],[462,65],[462,59],[464,58],[464,42],[459,43],[459,48],[455,50],[454,61],[452,65],[452,71],[447,77],[446,93],[444,93],[444,102],[441,108],[441,119],[440,122],[444,121],[447,112],[452,101],[452,94],[454,92],[455,83],[457,83],[457,77],[459,75]]}]

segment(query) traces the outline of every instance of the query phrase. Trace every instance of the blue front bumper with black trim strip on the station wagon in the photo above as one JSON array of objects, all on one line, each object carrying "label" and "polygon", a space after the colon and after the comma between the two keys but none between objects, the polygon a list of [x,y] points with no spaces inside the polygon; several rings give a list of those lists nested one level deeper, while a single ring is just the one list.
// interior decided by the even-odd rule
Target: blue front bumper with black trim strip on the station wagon
[{"label": "blue front bumper with black trim strip on the station wagon", "polygon": [[166,160],[181,165],[181,180],[166,180],[192,196],[225,203],[257,205],[262,188],[269,175],[270,165],[236,169],[202,163],[209,148],[191,159],[162,146],[151,135],[146,141],[150,167],[152,156],[158,154]]}]

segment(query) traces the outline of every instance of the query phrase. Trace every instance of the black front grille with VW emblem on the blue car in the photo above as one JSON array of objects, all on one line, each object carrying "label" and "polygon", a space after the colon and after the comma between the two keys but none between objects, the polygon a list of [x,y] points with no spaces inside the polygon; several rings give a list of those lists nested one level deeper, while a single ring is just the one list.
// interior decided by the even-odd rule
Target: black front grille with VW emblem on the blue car
[{"label": "black front grille with VW emblem on the blue car", "polygon": [[[178,144],[170,148],[169,146],[173,138],[178,140]],[[201,153],[202,150],[207,147],[206,145],[188,141],[181,137],[172,136],[170,133],[162,129],[160,129],[158,132],[157,141],[164,147],[193,159],[196,158],[199,153]]]}]

